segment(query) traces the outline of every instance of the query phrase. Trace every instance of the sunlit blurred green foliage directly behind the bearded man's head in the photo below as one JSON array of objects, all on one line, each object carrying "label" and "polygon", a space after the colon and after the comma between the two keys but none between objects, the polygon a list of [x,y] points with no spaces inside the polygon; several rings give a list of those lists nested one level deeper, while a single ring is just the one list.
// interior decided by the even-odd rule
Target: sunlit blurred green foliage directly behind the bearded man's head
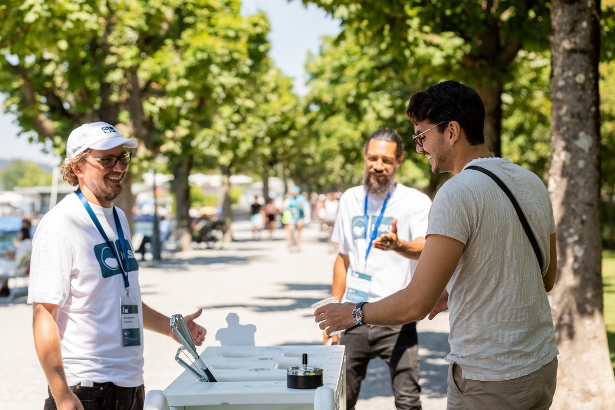
[{"label": "sunlit blurred green foliage directly behind the bearded man's head", "polygon": [[[302,146],[309,156],[297,168],[310,173],[318,186],[341,189],[358,183],[363,143],[380,127],[397,129],[407,145],[407,157],[424,163],[410,148],[411,124],[401,114],[422,78],[403,81],[402,70],[393,60],[391,53],[381,52],[376,45],[360,45],[351,33],[341,42],[325,39],[320,54],[309,57],[302,133],[306,141]],[[403,182],[420,180],[425,185],[427,169],[413,162],[407,161],[403,168],[402,173],[406,168],[415,171],[408,172]]]}]

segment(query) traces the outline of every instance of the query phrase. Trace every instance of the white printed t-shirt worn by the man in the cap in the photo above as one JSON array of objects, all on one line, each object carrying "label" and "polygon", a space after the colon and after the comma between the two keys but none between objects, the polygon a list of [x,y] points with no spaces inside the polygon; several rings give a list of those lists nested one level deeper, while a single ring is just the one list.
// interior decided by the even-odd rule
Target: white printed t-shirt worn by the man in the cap
[{"label": "white printed t-shirt worn by the man in the cap", "polygon": [[[120,249],[113,208],[90,203],[109,240]],[[124,277],[90,215],[69,194],[42,219],[33,238],[28,303],[60,306],[58,328],[68,385],[81,380],[143,384],[143,309],[138,263],[124,212],[116,208],[128,248],[130,296],[138,298],[141,345],[123,347],[120,298]]]}]

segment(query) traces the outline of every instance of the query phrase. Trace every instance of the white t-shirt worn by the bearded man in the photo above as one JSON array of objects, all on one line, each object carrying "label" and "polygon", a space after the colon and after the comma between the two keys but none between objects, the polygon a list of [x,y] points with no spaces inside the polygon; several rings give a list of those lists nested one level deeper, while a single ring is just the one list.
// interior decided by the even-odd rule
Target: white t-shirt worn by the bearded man
[{"label": "white t-shirt worn by the bearded man", "polygon": [[[371,232],[375,227],[382,209],[384,199],[368,197],[367,215],[369,226],[365,240],[363,213],[365,211],[365,187],[355,186],[348,189],[339,200],[339,211],[333,227],[331,242],[338,243],[338,251],[347,254],[350,265],[346,273],[346,283],[353,271],[371,275],[368,302],[379,301],[392,293],[405,288],[416,267],[416,261],[405,258],[394,251],[382,251],[371,248],[365,266],[365,252]],[[395,184],[394,191],[384,210],[384,215],[378,227],[378,238],[391,231],[391,223],[397,218],[397,237],[405,241],[424,237],[427,231],[427,216],[431,200],[422,192]],[[343,302],[347,299],[347,289]]]}]

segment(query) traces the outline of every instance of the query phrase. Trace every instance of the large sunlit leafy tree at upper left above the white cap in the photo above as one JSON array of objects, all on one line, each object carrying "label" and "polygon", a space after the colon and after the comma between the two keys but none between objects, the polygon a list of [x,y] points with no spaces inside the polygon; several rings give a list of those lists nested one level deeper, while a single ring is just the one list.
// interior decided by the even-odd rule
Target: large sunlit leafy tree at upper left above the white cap
[{"label": "large sunlit leafy tree at upper left above the white cap", "polygon": [[[0,7],[6,111],[58,151],[77,125],[105,120],[140,140],[133,171],[163,154],[177,177],[183,227],[192,166],[223,163],[229,152],[243,158],[265,143],[239,141],[232,130],[254,122],[236,114],[255,106],[250,92],[266,88],[271,69],[266,16],[242,17],[238,0],[28,0]],[[227,126],[213,133],[220,118]],[[233,138],[237,144],[224,146]]]}]

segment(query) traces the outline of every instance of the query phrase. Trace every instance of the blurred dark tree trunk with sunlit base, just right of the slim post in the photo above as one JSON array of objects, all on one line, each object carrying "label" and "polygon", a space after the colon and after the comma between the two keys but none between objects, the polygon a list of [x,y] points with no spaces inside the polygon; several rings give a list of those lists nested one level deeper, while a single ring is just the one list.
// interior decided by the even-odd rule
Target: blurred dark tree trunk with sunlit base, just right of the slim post
[{"label": "blurred dark tree trunk with sunlit base, just right of the slim post", "polygon": [[192,231],[190,227],[190,186],[188,176],[192,168],[192,157],[186,157],[180,164],[173,164],[173,181],[171,187],[175,194],[175,232],[180,240],[182,251],[191,249]]}]

